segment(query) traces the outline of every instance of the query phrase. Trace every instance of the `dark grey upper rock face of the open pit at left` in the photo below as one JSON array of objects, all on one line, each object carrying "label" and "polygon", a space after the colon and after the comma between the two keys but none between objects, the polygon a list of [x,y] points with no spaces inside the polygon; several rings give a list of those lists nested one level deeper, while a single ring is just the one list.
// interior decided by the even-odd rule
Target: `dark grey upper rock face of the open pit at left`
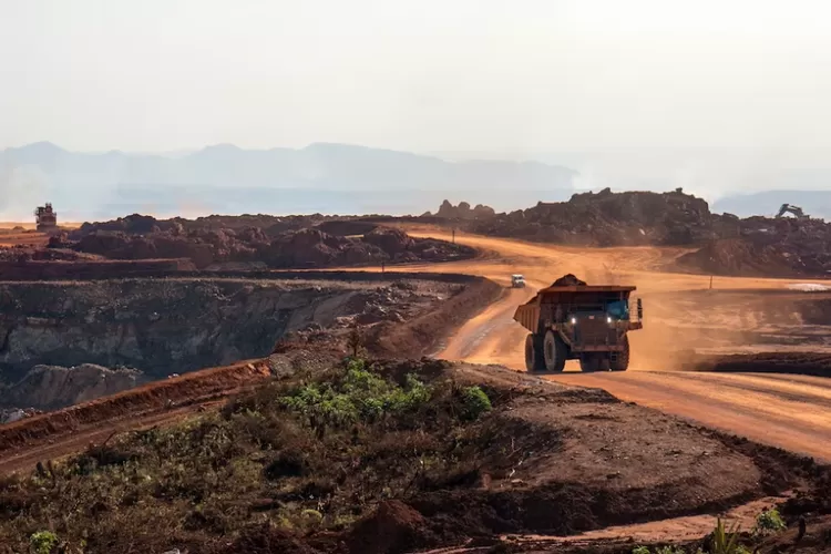
[{"label": "dark grey upper rock face of the open pit at left", "polygon": [[283,334],[331,325],[357,290],[203,279],[0,284],[0,371],[133,367],[151,378],[267,356]]}]

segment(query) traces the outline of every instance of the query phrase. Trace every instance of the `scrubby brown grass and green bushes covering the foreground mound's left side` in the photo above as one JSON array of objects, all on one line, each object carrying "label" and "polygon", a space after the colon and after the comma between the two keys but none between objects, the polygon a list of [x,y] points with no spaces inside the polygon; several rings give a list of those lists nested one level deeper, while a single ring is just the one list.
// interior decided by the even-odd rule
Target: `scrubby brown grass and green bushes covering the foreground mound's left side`
[{"label": "scrubby brown grass and green bushes covering the foreground mound's left side", "polygon": [[484,417],[491,409],[478,387],[350,358],[325,375],[261,386],[219,412],[116,435],[3,480],[0,553],[45,554],[59,543],[86,554],[213,553],[229,541],[248,544],[263,525],[287,541],[342,531],[381,500],[473,484],[482,466],[511,466],[505,441],[522,438],[495,435]]}]

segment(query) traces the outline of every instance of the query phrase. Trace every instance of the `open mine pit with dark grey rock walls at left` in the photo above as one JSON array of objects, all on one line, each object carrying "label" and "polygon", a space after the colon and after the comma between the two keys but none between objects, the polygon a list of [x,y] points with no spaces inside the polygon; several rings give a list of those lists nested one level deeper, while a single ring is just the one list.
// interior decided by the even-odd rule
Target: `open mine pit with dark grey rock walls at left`
[{"label": "open mine pit with dark grey rock walls at left", "polygon": [[2,283],[0,408],[58,409],[265,358],[287,334],[370,332],[430,312],[463,288],[394,277]]}]

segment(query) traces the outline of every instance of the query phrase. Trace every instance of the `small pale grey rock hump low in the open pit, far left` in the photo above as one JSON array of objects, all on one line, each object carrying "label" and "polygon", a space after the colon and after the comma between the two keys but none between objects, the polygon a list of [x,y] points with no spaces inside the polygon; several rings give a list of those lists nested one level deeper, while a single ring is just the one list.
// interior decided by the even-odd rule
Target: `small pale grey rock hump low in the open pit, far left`
[{"label": "small pale grey rock hump low in the open pit, far left", "polygon": [[0,402],[51,410],[129,390],[145,380],[135,369],[107,369],[92,363],[72,368],[35,366],[3,391]]}]

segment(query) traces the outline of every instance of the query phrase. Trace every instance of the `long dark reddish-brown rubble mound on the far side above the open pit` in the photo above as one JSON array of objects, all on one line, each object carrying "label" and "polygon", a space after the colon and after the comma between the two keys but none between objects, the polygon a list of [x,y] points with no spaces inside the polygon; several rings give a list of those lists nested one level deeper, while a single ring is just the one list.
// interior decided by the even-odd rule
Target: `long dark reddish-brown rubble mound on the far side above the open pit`
[{"label": "long dark reddish-brown rubble mound on the far side above the open pit", "polygon": [[[250,216],[242,217],[253,222]],[[213,226],[199,227],[184,219],[157,220],[132,215],[113,222],[84,224],[70,239],[72,248],[83,253],[113,259],[187,258],[199,269],[226,268],[228,264],[265,264],[273,268],[379,265],[474,255],[469,247],[412,238],[399,229],[367,222],[328,220],[319,222],[321,226],[316,227],[297,226],[315,220],[315,216],[309,216],[276,222],[264,230],[255,226],[216,226],[228,224],[227,217],[211,219]],[[352,236],[358,234],[353,232],[361,236]],[[61,246],[68,244],[61,243]]]}]

